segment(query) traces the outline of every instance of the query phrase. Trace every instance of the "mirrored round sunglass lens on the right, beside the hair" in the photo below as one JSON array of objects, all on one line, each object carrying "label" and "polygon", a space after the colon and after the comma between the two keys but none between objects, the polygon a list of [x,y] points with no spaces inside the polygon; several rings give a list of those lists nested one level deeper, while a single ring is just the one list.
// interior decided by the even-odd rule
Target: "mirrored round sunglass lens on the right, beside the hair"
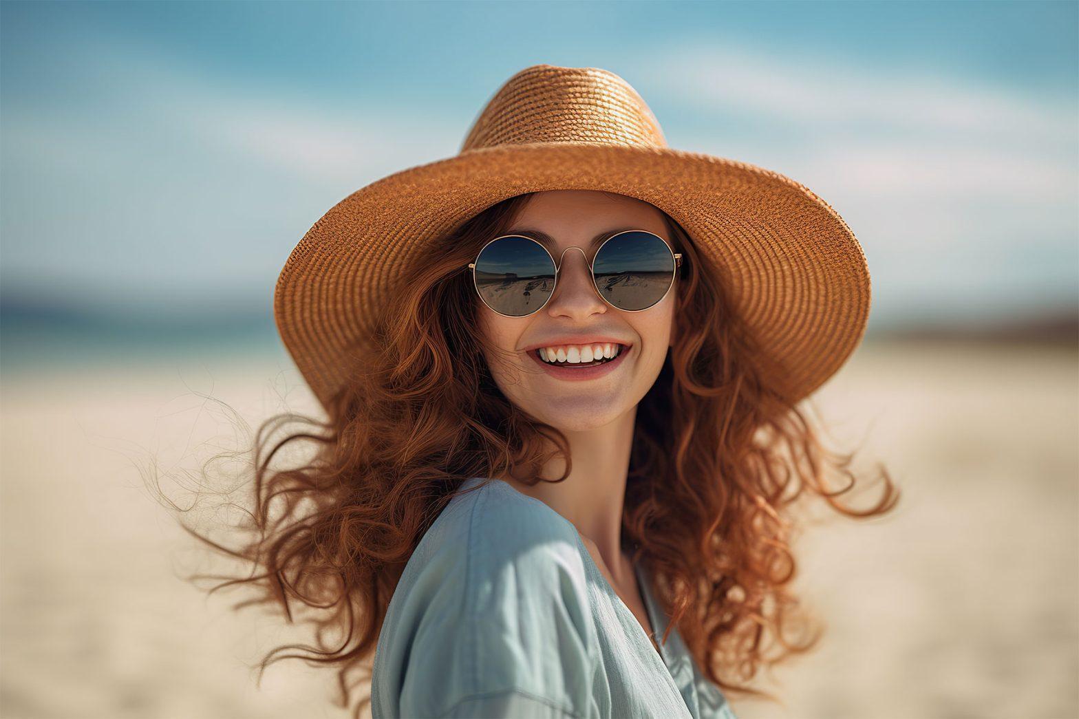
[{"label": "mirrored round sunglass lens on the right, beside the hair", "polygon": [[670,246],[651,232],[616,234],[603,243],[592,263],[600,295],[623,310],[645,310],[674,282]]}]

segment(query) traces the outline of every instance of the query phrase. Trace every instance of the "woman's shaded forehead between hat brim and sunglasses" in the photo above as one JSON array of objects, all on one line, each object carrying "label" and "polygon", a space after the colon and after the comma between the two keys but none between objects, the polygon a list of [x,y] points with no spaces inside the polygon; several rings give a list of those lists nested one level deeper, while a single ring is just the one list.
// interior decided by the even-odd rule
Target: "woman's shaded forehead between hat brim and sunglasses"
[{"label": "woman's shaded forehead between hat brim and sunglasses", "polygon": [[654,205],[593,190],[537,192],[508,231],[540,230],[559,245],[569,246],[588,243],[617,228],[647,230],[669,241],[664,215]]}]

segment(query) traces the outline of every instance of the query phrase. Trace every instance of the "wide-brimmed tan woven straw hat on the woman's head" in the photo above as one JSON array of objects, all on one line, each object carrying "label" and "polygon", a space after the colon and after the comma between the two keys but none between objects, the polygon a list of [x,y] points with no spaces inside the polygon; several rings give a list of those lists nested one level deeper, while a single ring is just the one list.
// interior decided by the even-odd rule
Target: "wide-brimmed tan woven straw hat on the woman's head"
[{"label": "wide-brimmed tan woven straw hat on the woman's head", "polygon": [[379,311],[432,243],[507,198],[605,190],[673,217],[725,273],[777,390],[798,401],[865,330],[870,275],[853,233],[803,185],[745,162],[667,146],[620,77],[534,65],[491,97],[461,151],[364,187],[329,209],[277,279],[274,318],[323,404],[369,347]]}]

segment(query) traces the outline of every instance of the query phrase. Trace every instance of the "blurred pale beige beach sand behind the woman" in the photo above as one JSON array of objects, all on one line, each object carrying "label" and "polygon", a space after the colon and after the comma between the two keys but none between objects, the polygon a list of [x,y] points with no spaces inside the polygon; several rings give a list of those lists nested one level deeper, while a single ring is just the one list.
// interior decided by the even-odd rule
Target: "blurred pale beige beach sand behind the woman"
[{"label": "blurred pale beige beach sand behind the woman", "polygon": [[[248,666],[305,634],[178,579],[211,566],[132,460],[195,472],[244,448],[193,392],[252,429],[283,395],[314,407],[283,355],[0,381],[0,716],[347,716],[336,675],[301,662],[256,689]],[[797,587],[829,633],[765,687],[787,709],[735,698],[738,715],[1079,716],[1076,351],[866,342],[816,404],[903,497],[797,540]]]}]

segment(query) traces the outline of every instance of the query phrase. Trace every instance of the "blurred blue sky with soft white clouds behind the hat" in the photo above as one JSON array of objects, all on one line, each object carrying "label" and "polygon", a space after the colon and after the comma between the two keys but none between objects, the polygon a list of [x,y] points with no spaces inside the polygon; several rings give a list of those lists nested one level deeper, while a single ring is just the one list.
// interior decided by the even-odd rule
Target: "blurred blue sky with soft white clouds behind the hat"
[{"label": "blurred blue sky with soft white clouds behind the hat", "polygon": [[0,4],[0,283],[270,312],[323,213],[455,154],[537,63],[632,84],[675,148],[832,204],[871,327],[1079,302],[1075,2]]}]

